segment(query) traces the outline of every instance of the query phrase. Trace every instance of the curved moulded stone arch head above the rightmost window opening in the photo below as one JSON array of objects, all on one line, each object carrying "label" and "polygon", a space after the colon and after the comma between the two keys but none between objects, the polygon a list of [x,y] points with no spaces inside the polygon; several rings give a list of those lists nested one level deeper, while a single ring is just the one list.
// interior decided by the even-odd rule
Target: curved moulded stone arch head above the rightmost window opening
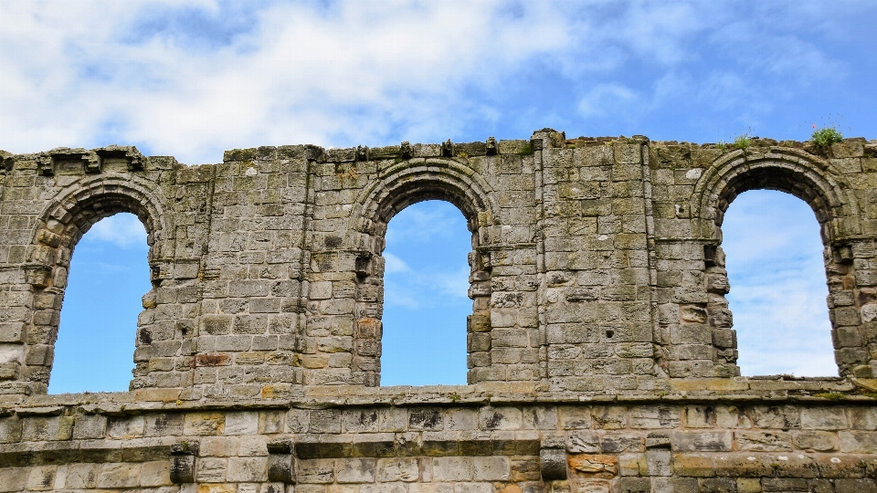
[{"label": "curved moulded stone arch head above the rightmost window opening", "polygon": [[771,152],[729,152],[716,160],[694,186],[692,219],[701,220],[701,237],[721,239],[724,213],[734,198],[749,190],[777,190],[808,203],[822,226],[826,244],[845,232],[838,219],[857,215],[856,201],[847,196],[849,187],[830,163],[795,149]]}]

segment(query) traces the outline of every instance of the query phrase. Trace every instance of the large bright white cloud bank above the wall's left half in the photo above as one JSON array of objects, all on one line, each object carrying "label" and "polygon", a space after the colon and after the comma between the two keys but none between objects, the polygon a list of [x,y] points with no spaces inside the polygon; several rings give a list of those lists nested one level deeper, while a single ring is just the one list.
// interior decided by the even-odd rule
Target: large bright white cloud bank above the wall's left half
[{"label": "large bright white cloud bank above the wall's left half", "polygon": [[133,37],[148,3],[2,8],[0,130],[16,152],[94,142],[108,127],[186,162],[229,146],[374,145],[398,125],[412,139],[451,132],[462,85],[495,84],[568,42],[559,9],[494,22],[499,2],[275,4],[215,49],[162,31]]}]

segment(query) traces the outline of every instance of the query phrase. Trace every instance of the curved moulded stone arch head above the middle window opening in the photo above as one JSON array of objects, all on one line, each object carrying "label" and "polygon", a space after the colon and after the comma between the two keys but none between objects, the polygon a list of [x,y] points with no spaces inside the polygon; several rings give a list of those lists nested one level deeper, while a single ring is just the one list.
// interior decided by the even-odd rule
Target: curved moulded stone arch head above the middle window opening
[{"label": "curved moulded stone arch head above the middle window opening", "polygon": [[490,184],[455,161],[402,162],[382,174],[380,180],[365,187],[356,199],[351,215],[355,231],[383,235],[394,215],[408,205],[425,200],[445,200],[456,205],[472,233],[494,226],[499,219],[499,206]]}]

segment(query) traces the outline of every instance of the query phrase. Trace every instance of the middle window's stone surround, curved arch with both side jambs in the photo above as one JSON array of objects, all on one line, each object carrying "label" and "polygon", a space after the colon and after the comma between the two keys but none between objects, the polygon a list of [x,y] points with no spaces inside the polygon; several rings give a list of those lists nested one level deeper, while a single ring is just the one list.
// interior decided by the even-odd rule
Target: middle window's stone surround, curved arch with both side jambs
[{"label": "middle window's stone surround, curved arch with both side jambs", "polygon": [[[357,292],[354,313],[354,373],[366,385],[380,383],[386,226],[408,205],[444,200],[460,209],[472,233],[469,255],[472,315],[468,318],[469,380],[476,366],[490,366],[490,348],[477,346],[477,333],[490,330],[491,246],[499,240],[498,211],[491,186],[453,160],[406,161],[388,168],[357,197],[352,210]],[[489,334],[485,334],[489,338]]]}]

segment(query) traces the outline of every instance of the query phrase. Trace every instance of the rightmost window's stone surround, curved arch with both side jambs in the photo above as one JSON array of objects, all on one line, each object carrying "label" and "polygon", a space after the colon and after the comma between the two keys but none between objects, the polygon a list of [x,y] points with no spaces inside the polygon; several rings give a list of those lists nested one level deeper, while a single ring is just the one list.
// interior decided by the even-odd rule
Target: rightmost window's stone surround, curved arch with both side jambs
[{"label": "rightmost window's stone surround, curved arch with both side jambs", "polygon": [[[750,190],[777,190],[806,202],[816,215],[825,247],[824,258],[829,286],[829,318],[835,359],[840,374],[867,363],[867,358],[851,357],[861,351],[843,347],[843,332],[861,331],[861,319],[850,317],[848,307],[833,299],[858,299],[852,264],[853,244],[860,231],[859,214],[851,187],[831,165],[805,152],[774,148],[770,152],[730,152],[710,166],[694,186],[691,202],[694,233],[703,243],[705,288],[709,297],[706,311],[713,330],[716,362],[734,364],[737,358],[732,316],[724,295],[730,290],[722,251],[724,213],[737,195]],[[855,301],[853,301],[855,302]],[[864,341],[864,334],[861,334]],[[850,339],[850,338],[846,338]],[[862,361],[859,361],[862,360]],[[739,371],[739,370],[738,370]]]}]

